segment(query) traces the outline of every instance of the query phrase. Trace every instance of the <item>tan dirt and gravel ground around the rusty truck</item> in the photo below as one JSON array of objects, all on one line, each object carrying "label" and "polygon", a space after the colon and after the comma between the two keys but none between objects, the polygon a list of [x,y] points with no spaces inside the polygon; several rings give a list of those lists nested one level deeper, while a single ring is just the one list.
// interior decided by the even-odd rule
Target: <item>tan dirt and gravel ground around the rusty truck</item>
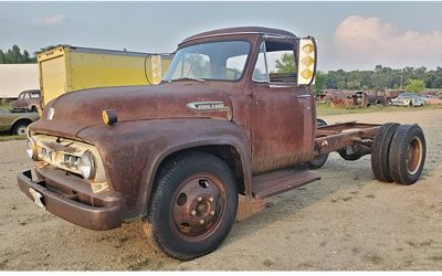
[{"label": "tan dirt and gravel ground around the rusty truck", "polygon": [[442,269],[442,110],[324,117],[329,124],[419,123],[427,163],[411,187],[375,180],[370,157],[333,153],[322,180],[266,200],[233,225],[212,254],[178,262],[146,238],[141,222],[94,232],[38,209],[15,174],[32,167],[25,141],[0,142],[0,268],[115,269]]}]

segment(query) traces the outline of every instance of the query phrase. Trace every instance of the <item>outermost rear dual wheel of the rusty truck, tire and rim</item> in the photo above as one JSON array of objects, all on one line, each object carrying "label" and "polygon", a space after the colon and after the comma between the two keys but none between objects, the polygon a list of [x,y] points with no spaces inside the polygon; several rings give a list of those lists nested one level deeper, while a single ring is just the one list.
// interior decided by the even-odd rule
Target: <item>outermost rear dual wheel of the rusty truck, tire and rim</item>
[{"label": "outermost rear dual wheel of the rusty truck, tire and rim", "polygon": [[398,184],[410,185],[418,181],[425,163],[427,144],[418,125],[398,127],[390,147],[390,174]]}]

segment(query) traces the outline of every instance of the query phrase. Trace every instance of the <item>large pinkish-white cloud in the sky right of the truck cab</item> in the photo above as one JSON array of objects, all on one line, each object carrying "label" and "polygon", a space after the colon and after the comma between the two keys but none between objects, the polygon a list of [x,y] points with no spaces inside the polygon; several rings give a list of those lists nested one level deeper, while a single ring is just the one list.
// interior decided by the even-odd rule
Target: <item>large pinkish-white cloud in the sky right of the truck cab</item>
[{"label": "large pinkish-white cloud in the sky right of the truck cab", "polygon": [[442,31],[399,31],[378,18],[350,15],[336,28],[334,44],[340,59],[361,64],[435,66],[442,56]]}]

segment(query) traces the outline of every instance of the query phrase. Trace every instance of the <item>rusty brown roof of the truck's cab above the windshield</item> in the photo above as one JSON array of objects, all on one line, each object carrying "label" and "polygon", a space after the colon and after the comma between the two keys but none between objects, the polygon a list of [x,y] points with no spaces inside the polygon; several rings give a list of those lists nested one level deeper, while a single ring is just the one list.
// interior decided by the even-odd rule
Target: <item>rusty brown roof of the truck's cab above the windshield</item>
[{"label": "rusty brown roof of the truck's cab above the windshield", "polygon": [[194,34],[185,39],[180,44],[202,39],[202,38],[210,38],[210,36],[218,36],[218,35],[229,35],[229,34],[238,34],[238,33],[256,33],[256,34],[267,34],[267,35],[284,35],[296,39],[297,36],[292,33],[280,29],[272,29],[272,28],[264,28],[264,26],[236,26],[236,28],[225,28],[225,29],[218,29],[213,31],[202,32]]}]

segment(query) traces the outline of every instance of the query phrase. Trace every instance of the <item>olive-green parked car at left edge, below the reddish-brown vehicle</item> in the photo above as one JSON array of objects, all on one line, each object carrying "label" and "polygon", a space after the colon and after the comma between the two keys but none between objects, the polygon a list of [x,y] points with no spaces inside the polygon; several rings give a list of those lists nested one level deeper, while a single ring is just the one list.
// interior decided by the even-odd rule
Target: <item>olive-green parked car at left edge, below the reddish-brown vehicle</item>
[{"label": "olive-green parked car at left edge, below the reddish-brown vehicle", "polygon": [[27,128],[39,119],[38,113],[11,113],[0,108],[0,131],[10,131],[13,135],[27,135]]}]

